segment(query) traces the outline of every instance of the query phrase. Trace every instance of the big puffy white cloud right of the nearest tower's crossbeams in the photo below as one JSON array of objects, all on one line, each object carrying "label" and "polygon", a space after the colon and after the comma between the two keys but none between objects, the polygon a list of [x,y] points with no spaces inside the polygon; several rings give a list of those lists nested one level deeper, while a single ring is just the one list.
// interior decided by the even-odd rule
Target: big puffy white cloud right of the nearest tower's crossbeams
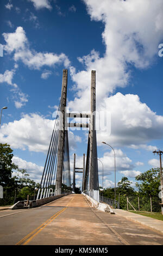
[{"label": "big puffy white cloud right of the nearest tower's crossbeams", "polygon": [[111,134],[97,131],[98,145],[104,141],[112,147],[126,145],[152,151],[156,147],[146,143],[163,137],[163,116],[156,115],[137,95],[117,93],[105,98],[99,108],[111,113]]}]

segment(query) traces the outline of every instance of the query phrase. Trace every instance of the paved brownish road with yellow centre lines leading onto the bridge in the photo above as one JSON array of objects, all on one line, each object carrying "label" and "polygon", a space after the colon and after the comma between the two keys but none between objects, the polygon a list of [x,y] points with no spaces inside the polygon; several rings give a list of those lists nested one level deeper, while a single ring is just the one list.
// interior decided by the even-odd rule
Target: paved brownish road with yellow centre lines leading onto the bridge
[{"label": "paved brownish road with yellow centre lines leading onto the bridge", "polygon": [[163,245],[163,236],[92,208],[81,194],[0,212],[0,245]]}]

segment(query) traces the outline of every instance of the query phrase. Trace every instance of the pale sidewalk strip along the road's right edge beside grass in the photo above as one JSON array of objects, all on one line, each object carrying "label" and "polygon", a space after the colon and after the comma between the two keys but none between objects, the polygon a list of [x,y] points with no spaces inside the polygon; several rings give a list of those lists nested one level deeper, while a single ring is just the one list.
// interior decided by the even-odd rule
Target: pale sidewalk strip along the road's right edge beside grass
[{"label": "pale sidewalk strip along the road's right edge beside grass", "polygon": [[134,214],[133,212],[124,211],[121,209],[114,209],[115,214],[127,218],[130,221],[140,223],[144,227],[157,231],[163,235],[163,221],[156,220],[151,217],[146,217],[139,214]]}]

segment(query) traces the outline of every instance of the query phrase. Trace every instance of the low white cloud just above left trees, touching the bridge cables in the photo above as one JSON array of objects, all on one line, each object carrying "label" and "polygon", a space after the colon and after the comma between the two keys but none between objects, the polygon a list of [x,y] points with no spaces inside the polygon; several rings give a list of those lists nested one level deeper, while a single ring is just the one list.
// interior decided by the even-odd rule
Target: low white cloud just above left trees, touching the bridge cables
[{"label": "low white cloud just above left trees, touching the bridge cables", "polygon": [[[12,162],[15,163],[19,169],[26,169],[30,179],[33,179],[35,182],[40,182],[43,173],[43,166],[27,162],[17,156],[12,157]],[[15,175],[16,173],[17,172],[13,172],[12,175]]]}]

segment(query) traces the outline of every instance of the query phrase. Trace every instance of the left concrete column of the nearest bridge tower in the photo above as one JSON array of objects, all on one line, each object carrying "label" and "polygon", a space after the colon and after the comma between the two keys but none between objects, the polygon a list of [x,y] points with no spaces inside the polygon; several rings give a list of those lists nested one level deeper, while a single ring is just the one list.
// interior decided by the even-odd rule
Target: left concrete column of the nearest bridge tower
[{"label": "left concrete column of the nearest bridge tower", "polygon": [[61,90],[61,112],[62,120],[59,131],[59,144],[58,144],[58,163],[57,163],[57,175],[55,182],[55,194],[61,193],[62,187],[62,170],[64,163],[64,146],[65,146],[65,107],[67,98],[67,69],[63,70],[62,74],[62,90]]}]

